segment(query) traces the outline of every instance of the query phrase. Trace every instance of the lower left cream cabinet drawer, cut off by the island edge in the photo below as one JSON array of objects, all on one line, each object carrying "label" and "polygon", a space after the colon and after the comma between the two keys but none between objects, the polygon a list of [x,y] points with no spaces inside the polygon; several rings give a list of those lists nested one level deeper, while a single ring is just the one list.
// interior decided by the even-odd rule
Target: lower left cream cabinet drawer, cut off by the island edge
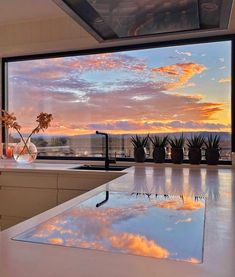
[{"label": "lower left cream cabinet drawer, cut off by the island edge", "polygon": [[0,214],[32,217],[57,204],[57,191],[53,189],[1,187]]}]

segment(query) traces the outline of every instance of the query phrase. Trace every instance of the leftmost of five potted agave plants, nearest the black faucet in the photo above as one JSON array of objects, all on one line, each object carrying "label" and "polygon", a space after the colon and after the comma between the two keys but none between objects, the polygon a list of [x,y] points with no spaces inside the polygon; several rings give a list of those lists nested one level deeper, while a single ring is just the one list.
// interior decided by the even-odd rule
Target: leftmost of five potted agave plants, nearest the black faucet
[{"label": "leftmost of five potted agave plants, nearest the black faucet", "polygon": [[134,146],[134,159],[137,163],[143,163],[146,159],[145,147],[148,143],[149,136],[141,137],[135,135],[131,137],[131,143]]}]

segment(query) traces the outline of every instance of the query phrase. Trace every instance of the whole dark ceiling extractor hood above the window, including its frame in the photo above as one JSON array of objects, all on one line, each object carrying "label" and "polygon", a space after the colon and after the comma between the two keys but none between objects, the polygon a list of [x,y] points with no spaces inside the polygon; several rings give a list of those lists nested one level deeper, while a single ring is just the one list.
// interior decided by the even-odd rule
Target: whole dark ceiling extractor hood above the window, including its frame
[{"label": "whole dark ceiling extractor hood above the window, including its frame", "polygon": [[224,30],[233,0],[53,0],[98,41]]}]

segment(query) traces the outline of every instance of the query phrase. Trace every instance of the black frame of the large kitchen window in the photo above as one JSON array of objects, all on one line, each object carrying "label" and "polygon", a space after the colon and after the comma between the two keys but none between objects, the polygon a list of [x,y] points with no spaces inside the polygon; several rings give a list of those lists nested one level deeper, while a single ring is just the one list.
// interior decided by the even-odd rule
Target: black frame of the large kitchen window
[{"label": "black frame of the large kitchen window", "polygon": [[[150,48],[164,48],[171,46],[183,46],[192,45],[200,43],[210,43],[210,42],[220,42],[220,41],[231,41],[231,150],[235,152],[235,82],[233,82],[233,73],[235,72],[235,35],[220,35],[212,37],[200,37],[200,38],[190,38],[190,39],[180,39],[180,40],[170,40],[161,42],[150,42],[150,43],[140,43],[135,45],[122,45],[122,46],[110,46],[101,48],[90,48],[84,50],[73,50],[73,51],[63,51],[63,52],[53,52],[53,53],[43,53],[43,54],[33,54],[33,55],[22,55],[22,56],[12,56],[12,57],[2,57],[1,65],[1,88],[2,88],[2,109],[7,107],[7,64],[9,62],[17,61],[27,61],[27,60],[39,60],[39,59],[49,59],[49,58],[62,58],[71,56],[84,56],[91,54],[101,54],[101,53],[113,53],[122,52],[129,50],[143,50]],[[2,127],[2,142],[6,139],[5,128]],[[75,157],[75,156],[39,156],[38,160],[89,160],[89,161],[99,161],[103,160],[102,157]],[[117,161],[127,161],[134,162],[134,158],[117,158]],[[153,159],[147,159],[146,162],[153,162]],[[167,160],[166,163],[171,163],[171,160]],[[188,160],[184,160],[183,163],[188,163]],[[206,163],[202,161],[202,163]],[[219,161],[219,164],[232,164],[232,161]]]}]

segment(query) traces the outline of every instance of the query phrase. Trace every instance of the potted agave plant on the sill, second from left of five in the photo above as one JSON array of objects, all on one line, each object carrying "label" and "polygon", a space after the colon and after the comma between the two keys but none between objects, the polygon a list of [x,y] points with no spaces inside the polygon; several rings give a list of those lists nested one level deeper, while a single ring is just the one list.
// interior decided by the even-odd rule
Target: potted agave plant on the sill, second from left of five
[{"label": "potted agave plant on the sill, second from left of five", "polygon": [[155,163],[164,163],[166,158],[166,145],[168,143],[168,136],[153,138],[149,137],[153,144],[153,161]]}]

